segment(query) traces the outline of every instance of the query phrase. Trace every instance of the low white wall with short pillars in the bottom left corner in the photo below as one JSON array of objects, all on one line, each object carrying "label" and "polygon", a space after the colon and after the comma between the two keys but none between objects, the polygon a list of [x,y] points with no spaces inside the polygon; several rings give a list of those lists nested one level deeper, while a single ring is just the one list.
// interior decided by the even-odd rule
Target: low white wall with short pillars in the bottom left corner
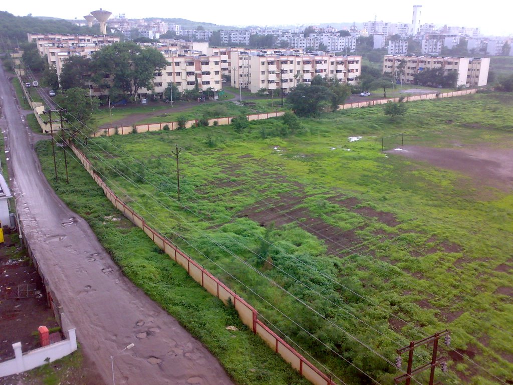
[{"label": "low white wall with short pillars in the bottom left corner", "polygon": [[68,330],[67,339],[52,343],[44,348],[34,349],[25,354],[22,352],[22,343],[12,344],[15,358],[0,362],[0,377],[10,376],[41,367],[48,362],[61,359],[77,349],[75,329]]}]

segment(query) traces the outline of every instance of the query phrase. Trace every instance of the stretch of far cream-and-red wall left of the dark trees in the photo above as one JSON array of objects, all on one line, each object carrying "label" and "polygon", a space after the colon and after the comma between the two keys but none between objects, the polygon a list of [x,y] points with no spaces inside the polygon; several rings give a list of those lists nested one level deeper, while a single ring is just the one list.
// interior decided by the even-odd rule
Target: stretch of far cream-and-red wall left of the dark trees
[{"label": "stretch of far cream-and-red wall left of the dark trees", "polygon": [[[281,117],[285,112],[268,112],[268,113],[257,113],[253,115],[247,115],[248,120],[262,120],[269,119],[275,117]],[[233,117],[228,118],[214,118],[208,120],[208,125],[213,126],[214,124],[218,126],[224,126],[231,123]],[[185,128],[190,128],[193,125],[197,124],[198,120],[188,120],[185,122]],[[93,137],[106,135],[110,137],[114,134],[125,135],[128,133],[140,133],[140,132],[149,132],[149,131],[162,131],[165,126],[169,127],[169,130],[175,130],[178,128],[178,122],[167,122],[167,123],[150,123],[150,124],[139,124],[135,126],[123,126],[123,127],[110,127],[110,128],[101,128],[96,132],[93,132]]]}]

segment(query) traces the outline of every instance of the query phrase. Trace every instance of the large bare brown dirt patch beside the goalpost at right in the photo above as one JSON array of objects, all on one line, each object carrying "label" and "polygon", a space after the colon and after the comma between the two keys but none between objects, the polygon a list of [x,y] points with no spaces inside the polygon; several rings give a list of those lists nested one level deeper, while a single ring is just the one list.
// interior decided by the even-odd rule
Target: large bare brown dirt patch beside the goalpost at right
[{"label": "large bare brown dirt patch beside the goalpost at right", "polygon": [[436,167],[459,171],[470,177],[476,186],[484,184],[507,192],[513,191],[512,148],[403,146],[401,151],[386,152],[427,162]]}]

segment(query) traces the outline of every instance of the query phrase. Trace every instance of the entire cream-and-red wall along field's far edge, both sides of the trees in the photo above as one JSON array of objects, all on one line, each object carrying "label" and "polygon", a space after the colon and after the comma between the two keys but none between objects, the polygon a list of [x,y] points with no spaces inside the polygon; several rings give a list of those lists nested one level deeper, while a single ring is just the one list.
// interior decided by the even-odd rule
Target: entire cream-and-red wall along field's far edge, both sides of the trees
[{"label": "entire cream-and-red wall along field's far edge, both sides of the trees", "polygon": [[[22,87],[23,88],[23,87]],[[431,99],[442,99],[442,98],[452,98],[457,96],[469,95],[472,93],[476,93],[477,88],[470,88],[461,91],[452,91],[452,92],[443,92],[443,93],[424,93],[422,95],[413,95],[410,97],[405,97],[402,99],[402,102],[414,102],[418,100],[431,100]],[[345,110],[349,108],[362,108],[362,107],[371,107],[378,106],[381,104],[386,104],[388,102],[398,103],[400,98],[386,98],[386,99],[377,99],[371,100],[368,102],[356,102],[356,103],[346,103],[340,104],[338,109]],[[281,117],[285,112],[269,112],[269,113],[258,113],[253,115],[247,115],[248,121],[251,120],[262,120],[269,118]],[[36,115],[37,116],[37,115]],[[212,126],[214,122],[217,122],[218,126],[223,126],[231,123],[233,117],[228,118],[215,118],[209,119],[208,125]],[[185,128],[190,128],[194,124],[198,123],[198,120],[189,120],[185,123]],[[126,135],[129,133],[140,133],[140,132],[149,132],[149,131],[162,131],[164,126],[168,126],[169,130],[175,130],[178,128],[178,122],[161,122],[161,123],[152,123],[152,124],[139,124],[134,126],[123,126],[123,127],[110,127],[110,128],[101,128],[96,132],[93,132],[92,136],[97,137],[101,135],[106,135],[110,137],[111,135],[119,134]]]}]

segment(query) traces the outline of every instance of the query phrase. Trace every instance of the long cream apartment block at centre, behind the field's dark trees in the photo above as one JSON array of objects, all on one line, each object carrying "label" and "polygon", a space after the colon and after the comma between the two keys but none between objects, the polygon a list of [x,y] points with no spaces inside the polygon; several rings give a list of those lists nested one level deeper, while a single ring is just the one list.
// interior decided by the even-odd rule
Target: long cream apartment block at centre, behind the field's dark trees
[{"label": "long cream apartment block at centre, behind the field's dark trees", "polygon": [[[261,88],[290,92],[300,83],[310,83],[316,75],[337,78],[341,83],[356,84],[362,68],[361,56],[331,55],[232,55],[234,67],[231,84],[251,92]],[[234,76],[233,76],[234,74]]]}]

